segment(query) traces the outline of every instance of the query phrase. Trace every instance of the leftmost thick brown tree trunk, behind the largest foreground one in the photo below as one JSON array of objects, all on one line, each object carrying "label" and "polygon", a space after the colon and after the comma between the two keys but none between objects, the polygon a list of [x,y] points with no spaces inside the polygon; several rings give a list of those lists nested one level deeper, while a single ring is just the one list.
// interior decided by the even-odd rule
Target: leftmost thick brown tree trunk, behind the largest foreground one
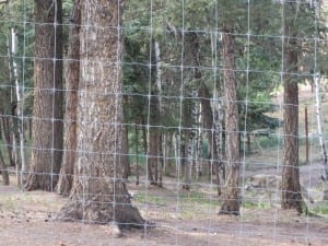
[{"label": "leftmost thick brown tree trunk, behind the largest foreground one", "polygon": [[61,1],[36,0],[35,22],[33,151],[25,188],[52,190],[62,157]]}]

